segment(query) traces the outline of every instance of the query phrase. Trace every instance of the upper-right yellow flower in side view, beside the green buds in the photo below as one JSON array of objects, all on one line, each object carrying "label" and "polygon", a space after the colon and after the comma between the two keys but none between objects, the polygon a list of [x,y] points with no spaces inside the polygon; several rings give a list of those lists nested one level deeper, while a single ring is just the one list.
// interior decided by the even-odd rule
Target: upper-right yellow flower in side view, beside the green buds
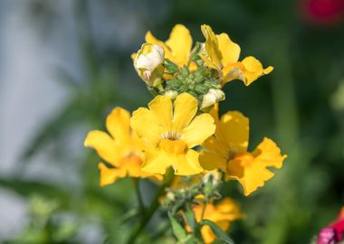
[{"label": "upper-right yellow flower in side view, beside the green buds", "polygon": [[239,60],[240,47],[226,33],[215,34],[209,25],[201,26],[205,36],[204,51],[200,57],[205,65],[218,71],[222,85],[231,80],[243,80],[246,86],[270,73],[272,66],[263,69],[260,61],[252,56]]}]

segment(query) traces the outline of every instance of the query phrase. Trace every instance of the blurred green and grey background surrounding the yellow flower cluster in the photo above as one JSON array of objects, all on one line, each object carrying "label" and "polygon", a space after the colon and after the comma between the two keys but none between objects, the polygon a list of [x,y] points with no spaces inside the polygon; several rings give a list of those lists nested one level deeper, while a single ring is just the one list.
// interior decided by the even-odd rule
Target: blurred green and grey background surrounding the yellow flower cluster
[{"label": "blurred green and grey background surrounding the yellow flower cluster", "polygon": [[[244,197],[235,243],[309,243],[344,205],[344,1],[1,0],[0,243],[122,243],[137,207],[133,185],[100,188],[99,157],[83,147],[111,108],[151,99],[132,67],[150,30],[176,23],[229,33],[275,70],[250,87],[226,85],[221,105],[251,119],[250,148],[269,136],[289,155]],[[141,185],[149,202],[153,185]],[[156,216],[140,243],[173,243]],[[128,221],[129,220],[129,221]],[[165,234],[164,234],[165,233]]]}]

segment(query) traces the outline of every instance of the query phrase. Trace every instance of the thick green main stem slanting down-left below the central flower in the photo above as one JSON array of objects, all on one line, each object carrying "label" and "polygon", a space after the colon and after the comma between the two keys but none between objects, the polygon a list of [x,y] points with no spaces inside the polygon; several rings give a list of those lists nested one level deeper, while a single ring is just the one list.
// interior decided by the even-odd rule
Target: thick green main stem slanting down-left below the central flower
[{"label": "thick green main stem slanting down-left below the central flower", "polygon": [[165,193],[165,189],[167,186],[169,186],[172,183],[173,180],[173,169],[170,168],[167,171],[167,174],[165,174],[165,178],[163,183],[161,183],[160,187],[158,188],[158,191],[156,192],[155,197],[153,198],[152,203],[148,207],[147,211],[144,211],[144,214],[142,215],[142,219],[139,222],[139,225],[136,226],[136,228],[131,232],[129,239],[127,241],[128,244],[135,243],[135,240],[139,237],[140,232],[145,229],[146,225],[148,224],[148,221],[153,217],[154,213],[158,210],[159,206],[159,198]]}]

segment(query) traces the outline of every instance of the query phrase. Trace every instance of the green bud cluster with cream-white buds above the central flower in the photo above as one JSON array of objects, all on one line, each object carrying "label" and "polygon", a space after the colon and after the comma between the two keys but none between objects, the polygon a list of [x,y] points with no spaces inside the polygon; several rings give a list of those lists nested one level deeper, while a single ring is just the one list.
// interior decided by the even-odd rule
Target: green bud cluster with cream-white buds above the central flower
[{"label": "green bud cluster with cream-white buds above the central flower", "polygon": [[198,100],[199,108],[205,110],[225,100],[225,92],[215,71],[203,65],[199,52],[201,45],[196,45],[189,65],[178,67],[165,58],[158,44],[145,43],[134,57],[134,66],[153,94],[175,99],[178,94],[187,92]]}]

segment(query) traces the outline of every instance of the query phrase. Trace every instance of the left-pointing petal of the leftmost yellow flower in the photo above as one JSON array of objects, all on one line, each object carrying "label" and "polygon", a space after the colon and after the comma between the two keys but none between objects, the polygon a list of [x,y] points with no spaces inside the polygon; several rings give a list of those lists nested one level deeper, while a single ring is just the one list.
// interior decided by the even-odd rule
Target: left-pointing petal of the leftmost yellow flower
[{"label": "left-pointing petal of the leftmost yellow flower", "polygon": [[94,148],[98,155],[110,164],[117,165],[121,157],[121,148],[105,132],[99,130],[90,131],[84,142],[85,146]]}]

